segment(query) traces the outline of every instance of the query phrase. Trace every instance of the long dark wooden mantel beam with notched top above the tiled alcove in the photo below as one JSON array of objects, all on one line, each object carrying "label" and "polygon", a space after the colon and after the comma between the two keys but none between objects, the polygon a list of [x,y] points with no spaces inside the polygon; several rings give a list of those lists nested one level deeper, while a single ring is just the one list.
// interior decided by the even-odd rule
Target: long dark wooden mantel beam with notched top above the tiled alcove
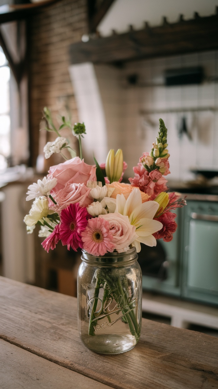
[{"label": "long dark wooden mantel beam with notched top above the tiled alcove", "polygon": [[70,46],[71,63],[119,63],[157,56],[192,53],[218,48],[218,14],[184,21],[167,23],[110,37],[90,39]]}]

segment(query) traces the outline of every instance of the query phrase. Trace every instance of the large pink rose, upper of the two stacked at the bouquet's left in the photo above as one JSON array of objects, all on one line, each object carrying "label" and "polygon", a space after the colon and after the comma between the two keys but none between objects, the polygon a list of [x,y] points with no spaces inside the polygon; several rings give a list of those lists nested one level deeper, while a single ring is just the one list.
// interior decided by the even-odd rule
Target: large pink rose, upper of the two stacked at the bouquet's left
[{"label": "large pink rose, upper of the two stacked at the bouquet's left", "polygon": [[86,185],[88,180],[96,181],[96,167],[87,165],[83,159],[81,161],[79,157],[75,157],[59,165],[51,166],[47,179],[52,178],[56,178],[58,183],[52,189],[51,194],[63,189],[67,183]]}]

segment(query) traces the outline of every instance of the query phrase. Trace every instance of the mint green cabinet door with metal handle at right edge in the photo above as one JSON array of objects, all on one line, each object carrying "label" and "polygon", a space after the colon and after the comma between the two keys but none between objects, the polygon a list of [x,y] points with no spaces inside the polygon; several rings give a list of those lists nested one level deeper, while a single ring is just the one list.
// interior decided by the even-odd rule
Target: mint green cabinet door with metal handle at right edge
[{"label": "mint green cabinet door with metal handle at right edge", "polygon": [[218,304],[218,203],[188,201],[184,211],[181,296]]}]

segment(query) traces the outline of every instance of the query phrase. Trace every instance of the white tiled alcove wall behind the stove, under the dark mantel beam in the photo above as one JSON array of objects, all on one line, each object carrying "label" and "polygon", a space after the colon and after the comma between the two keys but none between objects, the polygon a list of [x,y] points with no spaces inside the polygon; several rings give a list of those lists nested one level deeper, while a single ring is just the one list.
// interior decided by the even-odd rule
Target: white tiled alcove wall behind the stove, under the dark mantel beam
[{"label": "white tiled alcove wall behind the stove, under the dark mantel beam", "polygon": [[[204,67],[210,81],[201,85],[163,85],[164,70],[198,65]],[[161,117],[168,129],[171,175],[167,178],[189,180],[194,178],[190,168],[218,168],[218,110],[209,110],[211,107],[218,109],[218,84],[211,81],[211,78],[218,78],[218,51],[135,61],[122,69],[95,65],[92,70],[86,69],[84,77],[81,72],[74,72],[73,77],[79,95],[80,116],[87,128],[94,131],[89,137],[95,139],[94,145],[88,142],[86,146],[101,148],[100,163],[105,161],[110,148],[121,147],[129,165],[126,177],[133,176],[132,167],[144,151],[150,151],[155,141]],[[131,74],[138,75],[136,86],[127,82],[127,76]],[[87,81],[88,77],[92,81]],[[94,110],[93,105],[98,109]],[[206,110],[198,111],[202,107]],[[196,111],[188,112],[190,108]],[[170,109],[175,112],[162,112]],[[185,111],[176,112],[176,109]],[[142,115],[140,110],[155,112]],[[191,139],[185,134],[178,136],[183,117]],[[104,144],[100,146],[100,142]]]}]

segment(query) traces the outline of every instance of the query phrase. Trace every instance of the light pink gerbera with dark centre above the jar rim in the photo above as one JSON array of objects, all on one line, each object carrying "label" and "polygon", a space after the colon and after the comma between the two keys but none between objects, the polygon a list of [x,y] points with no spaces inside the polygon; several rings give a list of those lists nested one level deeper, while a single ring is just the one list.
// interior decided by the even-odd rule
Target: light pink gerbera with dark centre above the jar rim
[{"label": "light pink gerbera with dark centre above the jar rim", "polygon": [[94,217],[88,221],[87,227],[82,232],[83,249],[90,254],[99,256],[106,252],[113,252],[115,245],[113,236],[106,219]]}]

